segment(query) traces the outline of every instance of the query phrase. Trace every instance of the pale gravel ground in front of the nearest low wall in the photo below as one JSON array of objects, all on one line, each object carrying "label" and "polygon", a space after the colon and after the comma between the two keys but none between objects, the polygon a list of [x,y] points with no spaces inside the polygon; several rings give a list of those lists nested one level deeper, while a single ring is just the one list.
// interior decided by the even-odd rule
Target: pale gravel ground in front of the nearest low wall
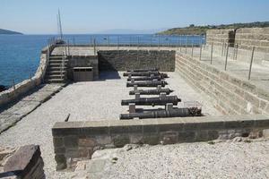
[{"label": "pale gravel ground in front of the nearest low wall", "polygon": [[269,141],[157,145],[116,156],[102,178],[269,178]]}]

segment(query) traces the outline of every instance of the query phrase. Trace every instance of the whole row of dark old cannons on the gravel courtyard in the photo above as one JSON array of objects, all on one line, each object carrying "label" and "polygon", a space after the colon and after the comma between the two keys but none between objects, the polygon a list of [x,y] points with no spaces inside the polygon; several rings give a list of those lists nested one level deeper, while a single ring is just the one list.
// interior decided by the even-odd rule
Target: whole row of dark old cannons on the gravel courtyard
[{"label": "whole row of dark old cannons on the gravel courtyard", "polygon": [[[168,82],[165,81],[166,78],[169,78],[167,73],[159,72],[156,68],[136,69],[124,72],[123,76],[127,77],[126,87],[134,88],[134,90],[129,91],[129,95],[135,97],[121,101],[122,106],[129,106],[129,113],[121,114],[120,119],[202,115],[201,107],[173,107],[178,106],[178,102],[181,102],[181,99],[178,96],[169,96],[174,90],[164,88],[168,85]],[[155,97],[141,98],[142,95]],[[135,108],[136,106],[164,106],[165,109],[141,109]]]}]

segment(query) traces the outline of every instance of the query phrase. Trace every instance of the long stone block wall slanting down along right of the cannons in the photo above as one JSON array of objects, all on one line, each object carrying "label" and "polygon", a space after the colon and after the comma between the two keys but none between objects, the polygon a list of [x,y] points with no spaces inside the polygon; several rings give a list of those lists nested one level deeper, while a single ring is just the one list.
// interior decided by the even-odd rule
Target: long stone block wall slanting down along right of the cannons
[{"label": "long stone block wall slanting down along right of the cannons", "polygon": [[176,55],[176,72],[212,99],[223,114],[269,114],[269,92],[187,55]]}]

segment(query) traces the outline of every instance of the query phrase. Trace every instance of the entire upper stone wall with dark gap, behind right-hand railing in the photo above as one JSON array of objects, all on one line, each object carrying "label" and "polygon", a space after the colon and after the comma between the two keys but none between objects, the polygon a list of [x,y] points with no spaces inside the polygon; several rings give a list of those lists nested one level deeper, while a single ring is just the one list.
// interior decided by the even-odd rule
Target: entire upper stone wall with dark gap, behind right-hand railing
[{"label": "entire upper stone wall with dark gap, behind right-hand railing", "polygon": [[252,49],[255,47],[255,64],[269,66],[269,28],[240,28],[237,30],[207,30],[205,49],[213,54],[225,56],[249,63]]}]

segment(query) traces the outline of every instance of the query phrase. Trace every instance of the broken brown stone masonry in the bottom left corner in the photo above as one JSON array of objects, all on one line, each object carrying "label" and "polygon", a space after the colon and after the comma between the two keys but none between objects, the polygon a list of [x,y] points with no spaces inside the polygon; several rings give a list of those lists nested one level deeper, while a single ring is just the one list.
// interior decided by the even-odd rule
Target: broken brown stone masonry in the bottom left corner
[{"label": "broken brown stone masonry in the bottom left corner", "polygon": [[0,149],[0,178],[45,179],[39,146]]}]

